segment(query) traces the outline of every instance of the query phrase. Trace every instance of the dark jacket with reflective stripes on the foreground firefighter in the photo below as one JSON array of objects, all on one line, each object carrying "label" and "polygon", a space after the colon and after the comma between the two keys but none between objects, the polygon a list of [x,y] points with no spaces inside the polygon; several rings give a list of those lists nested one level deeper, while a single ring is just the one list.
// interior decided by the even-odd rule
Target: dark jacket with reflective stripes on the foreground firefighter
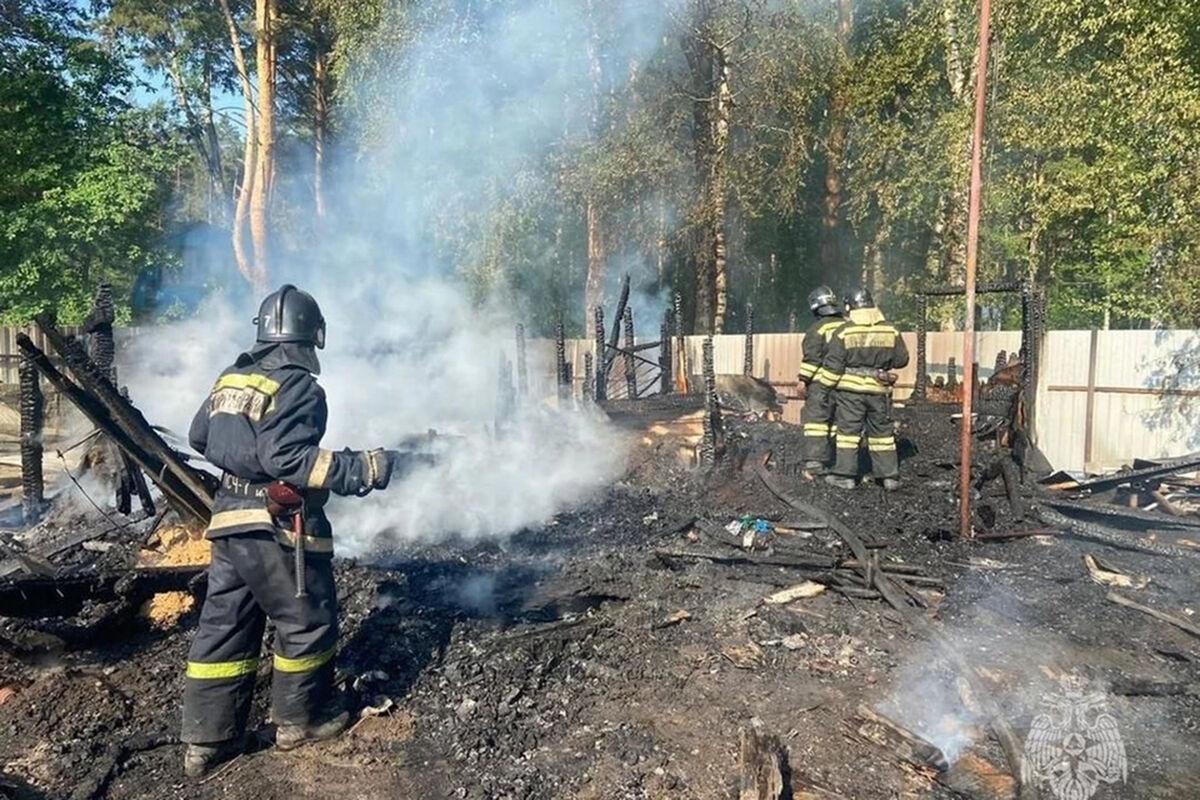
[{"label": "dark jacket with reflective stripes on the foreground firefighter", "polygon": [[287,481],[304,491],[305,549],[332,552],[325,501],[330,492],[365,492],[371,464],[365,453],[320,447],[328,409],[318,368],[311,348],[270,344],[244,353],[217,378],[188,432],[192,447],[224,473],[209,539],[266,530],[294,545],[290,524],[266,510],[266,487]]}]

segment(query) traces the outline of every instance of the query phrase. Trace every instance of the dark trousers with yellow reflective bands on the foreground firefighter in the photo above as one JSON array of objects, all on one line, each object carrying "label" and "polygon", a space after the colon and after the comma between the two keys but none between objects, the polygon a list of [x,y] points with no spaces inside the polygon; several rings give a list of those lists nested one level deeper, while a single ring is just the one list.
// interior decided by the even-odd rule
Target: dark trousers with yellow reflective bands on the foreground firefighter
[{"label": "dark trousers with yellow reflective bands on the foreground firefighter", "polygon": [[266,619],[275,624],[271,717],[306,724],[332,694],[337,590],[329,555],[308,554],[306,597],[296,597],[293,552],[274,534],[212,540],[209,589],[187,655],[184,729],[190,744],[246,729]]}]

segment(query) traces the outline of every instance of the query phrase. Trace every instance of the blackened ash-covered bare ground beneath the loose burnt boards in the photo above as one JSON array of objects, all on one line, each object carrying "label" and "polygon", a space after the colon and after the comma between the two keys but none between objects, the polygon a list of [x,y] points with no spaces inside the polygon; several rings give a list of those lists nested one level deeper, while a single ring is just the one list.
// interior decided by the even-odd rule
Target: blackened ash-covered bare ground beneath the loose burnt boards
[{"label": "blackened ash-covered bare ground beneath the loose burnt boards", "polygon": [[[797,498],[886,543],[886,561],[941,579],[944,588],[917,588],[920,613],[1022,741],[1038,715],[1066,718],[1068,688],[1086,686],[1080,724],[1086,733],[1110,715],[1126,766],[1087,796],[1200,796],[1200,639],[1105,600],[1116,590],[1194,619],[1200,555],[1066,535],[958,540],[954,423],[944,409],[900,416],[906,480],[893,494],[805,481],[794,470],[797,428],[733,423],[725,463],[710,473],[679,468],[674,444],[643,444],[624,482],[503,546],[341,563],[340,672],[354,708],[382,714],[335,742],[282,753],[259,708],[254,751],[202,783],[180,777],[175,740],[194,613],[168,631],[134,625],[53,654],[31,650],[25,630],[25,645],[7,648],[22,654],[0,667],[0,792],[725,799],[737,796],[739,732],[757,720],[786,745],[798,798],[1010,796],[979,698],[886,603],[826,591],[767,606],[766,595],[811,576],[664,555],[736,554],[697,534],[696,519],[798,519],[758,480],[766,462]],[[991,509],[980,528],[1046,528],[1033,510],[1018,518],[998,480],[979,503]],[[805,533],[792,535],[792,552],[848,555],[833,533]],[[1133,585],[1097,583],[1088,554]],[[860,706],[929,739],[952,769],[906,760]],[[1040,796],[1066,795],[1044,784]]]}]

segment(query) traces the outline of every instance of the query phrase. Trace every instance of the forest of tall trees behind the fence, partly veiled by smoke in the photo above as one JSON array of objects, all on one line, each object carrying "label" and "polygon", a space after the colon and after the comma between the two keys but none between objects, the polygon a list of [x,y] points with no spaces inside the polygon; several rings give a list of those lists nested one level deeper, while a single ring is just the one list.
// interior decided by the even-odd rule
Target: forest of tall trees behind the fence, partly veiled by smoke
[{"label": "forest of tall trees behind the fence, partly veiled by smoke", "polygon": [[[1200,6],[994,6],[980,277],[1034,282],[1058,327],[1196,326]],[[452,273],[541,332],[583,332],[625,272],[695,330],[736,330],[748,302],[780,330],[818,282],[911,321],[918,288],[962,279],[977,14],[5,4],[0,312],[74,318],[148,272],[257,288],[320,254]],[[982,301],[985,324],[1010,312]]]}]

